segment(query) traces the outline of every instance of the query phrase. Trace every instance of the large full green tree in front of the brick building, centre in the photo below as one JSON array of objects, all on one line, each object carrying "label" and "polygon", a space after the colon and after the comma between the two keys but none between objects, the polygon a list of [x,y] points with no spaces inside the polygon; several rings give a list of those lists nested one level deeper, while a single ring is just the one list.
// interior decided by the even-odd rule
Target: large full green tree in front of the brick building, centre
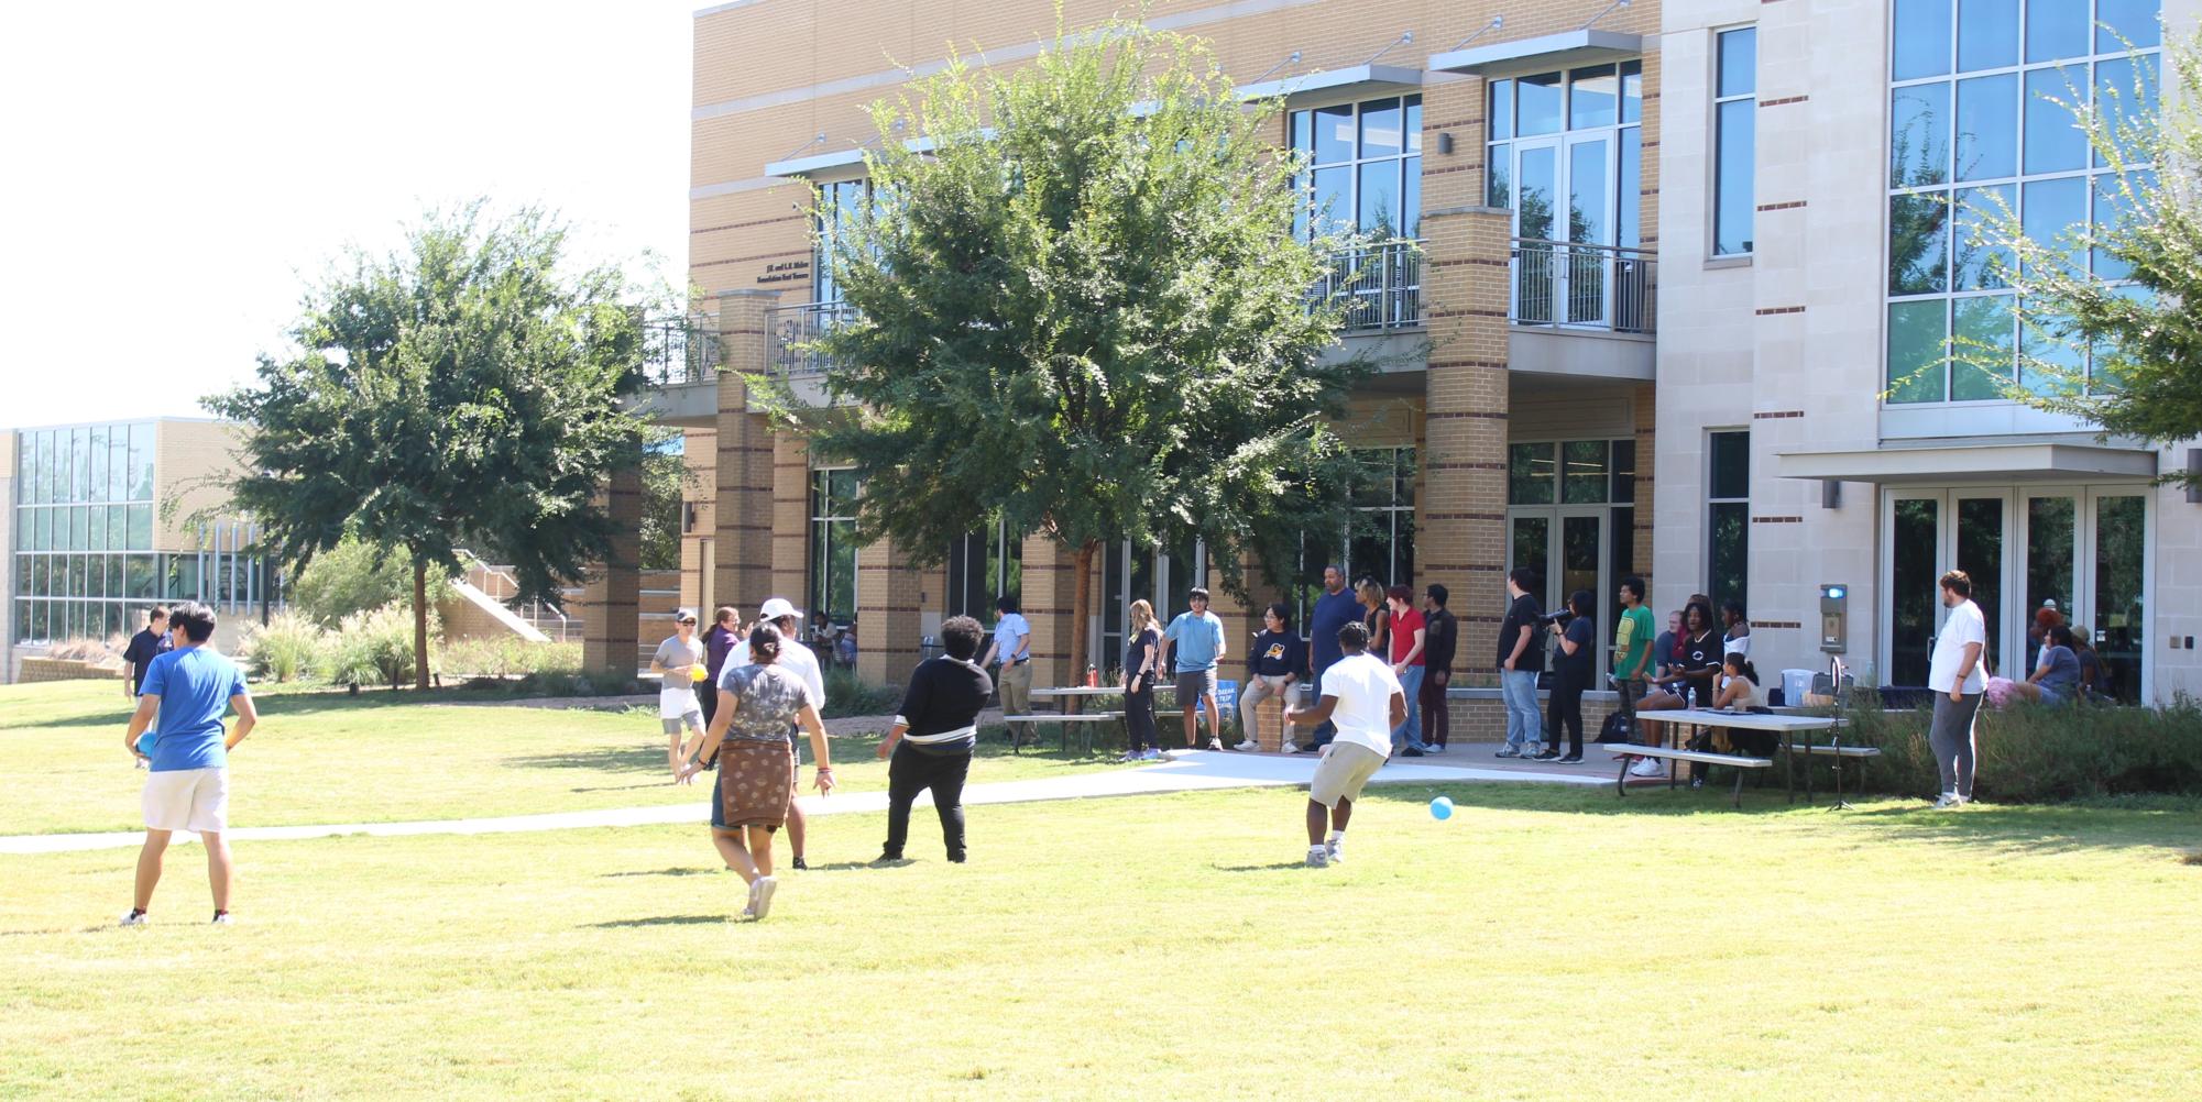
[{"label": "large full green tree in front of the brick building, centre", "polygon": [[874,202],[828,238],[854,319],[817,350],[848,405],[806,414],[857,469],[861,539],[931,565],[991,517],[1044,532],[1077,559],[1079,669],[1105,543],[1207,539],[1244,598],[1238,563],[1275,583],[1301,532],[1348,528],[1328,422],[1370,365],[1321,356],[1343,306],[1308,295],[1345,242],[1293,238],[1277,110],[1127,22],[874,106],[927,152],[868,154]]}]

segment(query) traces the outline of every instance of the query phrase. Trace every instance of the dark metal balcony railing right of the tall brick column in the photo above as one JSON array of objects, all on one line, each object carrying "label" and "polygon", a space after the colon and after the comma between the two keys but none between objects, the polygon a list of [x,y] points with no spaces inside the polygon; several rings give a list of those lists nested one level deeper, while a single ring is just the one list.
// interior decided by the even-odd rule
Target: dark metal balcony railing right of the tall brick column
[{"label": "dark metal balcony railing right of the tall brick column", "polygon": [[1647,249],[1515,238],[1506,321],[1643,332],[1658,319],[1658,262]]}]

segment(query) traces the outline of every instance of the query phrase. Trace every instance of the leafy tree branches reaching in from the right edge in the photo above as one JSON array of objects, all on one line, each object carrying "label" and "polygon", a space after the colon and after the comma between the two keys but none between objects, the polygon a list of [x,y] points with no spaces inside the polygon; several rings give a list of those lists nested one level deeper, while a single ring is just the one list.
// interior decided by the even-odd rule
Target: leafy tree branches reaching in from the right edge
[{"label": "leafy tree branches reaching in from the right edge", "polygon": [[2019,348],[1964,337],[1953,348],[2010,400],[2149,444],[2202,436],[2202,33],[2167,42],[2162,57],[2176,95],[2158,97],[2156,68],[2136,55],[2129,86],[2061,101],[2114,169],[2094,191],[2116,218],[2043,242],[2006,202],[1971,211],[1973,244],[1993,249],[1991,271],[2017,288]]}]

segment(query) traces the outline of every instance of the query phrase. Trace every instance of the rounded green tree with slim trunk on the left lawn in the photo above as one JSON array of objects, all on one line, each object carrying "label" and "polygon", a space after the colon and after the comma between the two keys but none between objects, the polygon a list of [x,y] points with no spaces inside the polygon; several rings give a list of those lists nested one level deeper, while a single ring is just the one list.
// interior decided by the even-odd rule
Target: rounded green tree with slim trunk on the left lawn
[{"label": "rounded green tree with slim trunk on the left lawn", "polygon": [[610,550],[603,480],[639,462],[639,323],[612,266],[564,275],[566,227],[476,200],[306,295],[299,352],[207,405],[251,427],[227,482],[293,567],[352,537],[412,559],[414,684],[427,688],[427,572],[458,548],[548,600]]}]

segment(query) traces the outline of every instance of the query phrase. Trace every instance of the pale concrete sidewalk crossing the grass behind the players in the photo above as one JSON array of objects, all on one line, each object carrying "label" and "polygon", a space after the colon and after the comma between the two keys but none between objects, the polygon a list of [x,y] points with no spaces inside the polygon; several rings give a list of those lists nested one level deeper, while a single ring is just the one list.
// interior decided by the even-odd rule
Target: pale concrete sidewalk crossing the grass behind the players
[{"label": "pale concrete sidewalk crossing the grass behind the players", "polygon": [[[1392,759],[1372,783],[1436,783],[1462,781],[1541,781],[1563,785],[1610,785],[1605,768],[1482,768],[1453,765],[1445,754],[1438,759],[1403,761]],[[1138,768],[1112,768],[1081,772],[1072,776],[1048,776],[1039,781],[1000,781],[971,785],[964,790],[964,805],[986,803],[1031,803],[1031,801],[1077,801],[1097,796],[1147,796],[1158,792],[1207,792],[1224,787],[1306,787],[1315,776],[1315,754],[1238,754],[1218,750],[1178,750],[1176,761],[1158,761]],[[544,829],[584,827],[656,827],[667,823],[705,823],[709,787],[698,787],[694,801],[663,807],[610,807],[601,812],[553,812],[535,816],[502,818],[438,818],[418,823],[330,823],[306,827],[233,827],[231,840],[266,842],[297,838],[339,838],[366,834],[377,838],[399,838],[412,834],[520,834]],[[813,816],[883,812],[885,792],[852,792],[848,796],[804,796],[804,812]],[[929,796],[918,796],[929,805]],[[86,849],[123,849],[145,838],[143,831],[108,834],[18,834],[0,836],[0,853],[73,853]],[[187,831],[178,840],[192,840]]]}]

